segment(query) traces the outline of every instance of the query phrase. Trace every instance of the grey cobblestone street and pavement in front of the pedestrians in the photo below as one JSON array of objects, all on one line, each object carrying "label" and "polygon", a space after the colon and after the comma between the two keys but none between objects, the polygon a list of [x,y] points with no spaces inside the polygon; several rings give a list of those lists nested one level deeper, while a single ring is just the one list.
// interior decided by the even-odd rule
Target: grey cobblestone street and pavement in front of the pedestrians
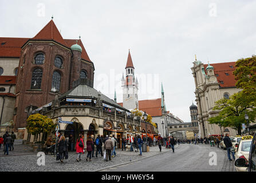
[{"label": "grey cobblestone street and pavement in front of the pedestrians", "polygon": [[[1,149],[2,150],[2,149]],[[25,151],[24,151],[25,150]],[[208,152],[214,151],[218,153],[218,166],[207,166]],[[121,149],[116,150],[116,157],[112,161],[104,161],[103,157],[98,155],[98,158],[92,158],[92,161],[86,161],[86,155],[82,155],[80,162],[76,161],[77,154],[69,152],[68,160],[64,160],[61,164],[56,161],[56,157],[52,155],[45,156],[45,166],[38,166],[37,153],[31,152],[31,148],[25,145],[14,145],[14,151],[11,151],[9,156],[4,156],[3,152],[0,156],[0,171],[27,171],[27,172],[63,172],[63,171],[170,171],[172,168],[178,171],[222,171],[233,172],[234,161],[228,161],[226,151],[217,147],[210,147],[209,145],[194,145],[181,144],[175,146],[175,154],[172,154],[171,149],[162,148],[162,153],[159,152],[158,146],[152,146],[150,152],[143,153],[139,156],[139,152],[127,152]],[[166,153],[167,152],[167,153]],[[23,155],[28,154],[28,155]],[[95,152],[94,152],[95,154]],[[159,155],[157,155],[159,154]],[[156,156],[155,156],[156,155]],[[95,155],[94,155],[95,156]],[[171,156],[171,159],[169,158]],[[175,158],[174,158],[175,156]],[[146,159],[145,159],[146,158]],[[144,160],[145,159],[145,160]],[[168,161],[167,161],[168,160]],[[170,161],[172,160],[172,161]],[[157,162],[162,164],[157,166]],[[156,169],[150,169],[151,165],[148,162],[153,162]],[[194,164],[193,164],[194,162]],[[200,165],[206,167],[202,168]],[[195,169],[199,166],[199,169]],[[136,167],[136,168],[134,168]],[[126,169],[125,169],[126,168]]]}]

